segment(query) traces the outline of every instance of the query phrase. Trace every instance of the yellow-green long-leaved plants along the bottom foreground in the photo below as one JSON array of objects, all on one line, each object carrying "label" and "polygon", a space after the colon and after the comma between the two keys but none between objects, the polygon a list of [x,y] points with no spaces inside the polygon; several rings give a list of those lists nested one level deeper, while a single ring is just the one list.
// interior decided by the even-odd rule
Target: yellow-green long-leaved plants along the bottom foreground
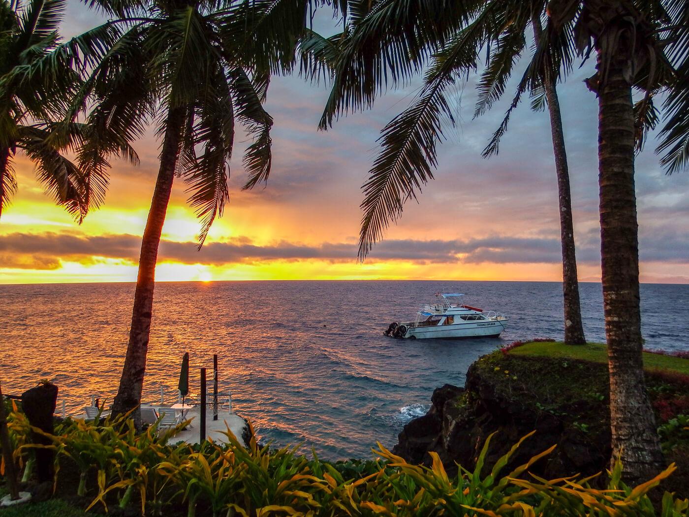
[{"label": "yellow-green long-leaved plants along the bottom foreground", "polygon": [[[13,412],[10,422],[15,451],[20,458],[32,454],[31,430],[25,416]],[[35,430],[35,429],[34,429]],[[531,466],[553,447],[524,465],[506,472],[511,457],[524,440],[488,471],[486,440],[473,471],[460,468],[450,477],[435,453],[431,467],[411,465],[378,444],[376,460],[329,463],[298,454],[298,447],[270,449],[251,439],[243,447],[227,432],[227,445],[170,445],[176,429],[157,436],[154,427],[136,433],[132,420],[102,423],[66,420],[50,436],[56,465],[72,462],[86,478],[94,478],[87,494],[89,507],[140,505],[145,515],[169,514],[187,506],[216,516],[655,516],[648,491],[675,470],[664,472],[637,487],[621,482],[621,464],[608,472],[606,489],[594,488],[593,478],[546,480],[529,473]],[[491,435],[492,437],[493,435]],[[94,472],[95,471],[95,472]],[[56,478],[61,476],[56,469]],[[138,500],[136,500],[138,499]],[[689,500],[666,493],[659,515],[689,515]]]}]

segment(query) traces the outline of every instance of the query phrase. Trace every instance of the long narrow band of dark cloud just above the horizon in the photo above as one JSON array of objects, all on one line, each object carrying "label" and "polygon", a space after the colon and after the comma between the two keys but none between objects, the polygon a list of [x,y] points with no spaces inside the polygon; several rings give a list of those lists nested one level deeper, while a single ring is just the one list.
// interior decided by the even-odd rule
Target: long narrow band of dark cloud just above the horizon
[{"label": "long narrow band of dark cloud just above the horizon", "polygon": [[[77,236],[14,233],[0,236],[0,267],[55,269],[60,260],[84,261],[92,256],[136,263],[140,245],[140,237],[126,234]],[[208,243],[200,251],[193,242],[161,241],[158,260],[212,265],[309,259],[353,262],[356,252],[354,243],[309,246],[280,241],[271,245],[256,245],[246,237],[238,237],[232,242]],[[642,260],[685,263],[688,256],[689,239],[681,234],[655,233],[642,241]],[[594,232],[582,236],[577,257],[581,263],[599,262],[599,247]],[[560,244],[558,239],[548,237],[488,237],[466,241],[390,239],[377,245],[369,257],[369,261],[386,260],[469,264],[557,263],[560,261]]]}]

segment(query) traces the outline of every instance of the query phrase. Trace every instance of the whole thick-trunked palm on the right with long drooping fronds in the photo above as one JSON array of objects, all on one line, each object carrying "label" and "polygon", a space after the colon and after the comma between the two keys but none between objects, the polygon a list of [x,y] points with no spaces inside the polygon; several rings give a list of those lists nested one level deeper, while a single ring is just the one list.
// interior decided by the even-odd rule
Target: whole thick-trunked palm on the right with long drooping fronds
[{"label": "whole thick-trunked palm on the right with long drooping fronds", "polygon": [[[435,147],[443,139],[442,116],[453,122],[445,90],[458,75],[475,68],[475,49],[495,41],[493,57],[518,56],[519,52],[510,47],[523,46],[523,30],[517,27],[524,25],[506,25],[505,21],[516,19],[520,12],[525,17],[521,5],[509,0],[467,1],[461,3],[461,14],[456,19],[452,19],[455,12],[431,19],[426,17],[428,10],[415,2],[374,2],[359,17],[351,34],[309,42],[313,55],[304,60],[307,71],[316,77],[314,70],[320,73],[327,65],[335,70],[322,125],[343,110],[369,106],[387,85],[386,80],[393,85],[400,83],[422,68],[431,50],[434,53],[417,99],[383,130],[383,150],[364,187],[360,240],[364,252],[381,238],[389,222],[400,216],[404,201],[415,197],[420,187],[433,178]],[[524,92],[531,92],[539,105],[546,96],[544,87],[568,71],[575,54],[586,59],[595,52],[598,72],[588,86],[599,101],[601,259],[613,457],[621,456],[626,477],[637,480],[656,472],[662,456],[644,391],[634,156],[644,134],[658,119],[652,95],[672,85],[677,93],[670,96],[668,103],[675,117],[666,126],[665,147],[661,150],[670,148],[667,163],[686,164],[689,123],[687,110],[680,109],[688,103],[686,82],[681,87],[673,79],[672,67],[658,39],[664,32],[673,34],[675,57],[686,65],[687,39],[683,31],[689,21],[687,6],[681,0],[551,0],[531,6],[532,15],[546,10],[551,16],[542,34],[538,34],[537,23],[533,24],[537,39],[533,59],[491,145],[497,145]],[[444,25],[439,27],[441,23]],[[491,27],[508,30],[496,36]],[[344,50],[338,45],[345,45]],[[514,61],[493,59],[496,62],[499,64],[495,66],[502,66],[502,70],[495,77],[501,80],[489,81],[488,99],[502,93],[502,79],[508,77]],[[490,68],[491,63],[486,70]],[[643,93],[637,103],[632,101],[633,88]]]}]

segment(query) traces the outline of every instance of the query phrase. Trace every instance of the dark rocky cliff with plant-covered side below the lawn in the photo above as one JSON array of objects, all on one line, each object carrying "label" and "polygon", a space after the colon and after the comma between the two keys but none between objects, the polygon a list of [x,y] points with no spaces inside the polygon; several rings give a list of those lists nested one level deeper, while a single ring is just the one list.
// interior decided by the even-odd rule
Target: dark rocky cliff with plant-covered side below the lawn
[{"label": "dark rocky cliff with plant-covered side below the lawn", "polygon": [[[648,378],[650,390],[667,383]],[[446,384],[435,389],[431,408],[404,426],[393,453],[409,463],[430,465],[428,453],[436,452],[449,472],[456,472],[457,464],[471,470],[491,434],[495,433],[486,458],[489,466],[522,436],[535,431],[518,449],[514,466],[557,444],[531,467],[533,474],[605,472],[611,454],[608,393],[606,365],[495,352],[469,367],[464,387]],[[666,454],[668,463],[678,463],[675,480],[681,484],[686,476],[682,471],[689,465],[683,456],[672,454]]]}]

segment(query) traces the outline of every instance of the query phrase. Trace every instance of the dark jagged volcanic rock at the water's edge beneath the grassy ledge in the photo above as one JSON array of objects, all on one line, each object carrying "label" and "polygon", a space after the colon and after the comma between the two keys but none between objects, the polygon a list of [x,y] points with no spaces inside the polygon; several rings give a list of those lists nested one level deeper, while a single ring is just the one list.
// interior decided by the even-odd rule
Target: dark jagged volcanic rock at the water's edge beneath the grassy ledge
[{"label": "dark jagged volcanic rock at the water's edge beneath the grassy ledge", "polygon": [[451,474],[457,472],[456,463],[473,469],[484,443],[496,432],[486,457],[490,466],[522,436],[535,430],[507,468],[522,465],[555,444],[555,451],[531,467],[531,472],[552,477],[590,475],[607,467],[608,427],[582,431],[574,429],[567,418],[568,414],[590,412],[590,407],[563,401],[562,407],[552,412],[542,411],[535,405],[533,394],[505,392],[504,385],[486,378],[475,364],[466,374],[464,388],[444,385],[435,389],[431,401],[429,412],[404,426],[393,447],[395,454],[410,463],[429,465],[428,453],[436,452]]}]

